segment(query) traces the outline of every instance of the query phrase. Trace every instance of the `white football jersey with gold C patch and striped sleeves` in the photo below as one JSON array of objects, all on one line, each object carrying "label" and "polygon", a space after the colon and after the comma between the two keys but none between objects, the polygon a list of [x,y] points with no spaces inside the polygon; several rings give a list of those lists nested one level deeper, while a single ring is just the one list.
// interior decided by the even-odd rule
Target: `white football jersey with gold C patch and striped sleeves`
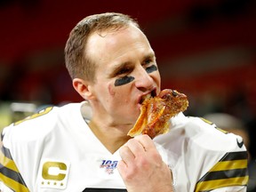
[{"label": "white football jersey with gold C patch and striped sleeves", "polygon": [[[84,115],[82,115],[84,114]],[[0,191],[123,192],[111,154],[88,126],[87,102],[50,107],[2,132]],[[176,192],[246,191],[247,152],[241,137],[180,113],[156,148],[173,174]]]}]

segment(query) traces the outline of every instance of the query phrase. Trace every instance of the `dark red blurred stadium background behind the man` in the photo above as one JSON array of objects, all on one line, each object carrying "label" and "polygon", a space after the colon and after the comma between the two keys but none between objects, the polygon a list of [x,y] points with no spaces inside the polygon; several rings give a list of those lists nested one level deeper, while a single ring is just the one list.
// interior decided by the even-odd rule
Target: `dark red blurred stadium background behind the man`
[{"label": "dark red blurred stadium background behind the man", "polygon": [[63,49],[76,23],[100,12],[137,18],[163,88],[188,95],[189,116],[225,112],[242,119],[255,156],[255,0],[0,0],[0,129],[45,105],[82,100]]}]

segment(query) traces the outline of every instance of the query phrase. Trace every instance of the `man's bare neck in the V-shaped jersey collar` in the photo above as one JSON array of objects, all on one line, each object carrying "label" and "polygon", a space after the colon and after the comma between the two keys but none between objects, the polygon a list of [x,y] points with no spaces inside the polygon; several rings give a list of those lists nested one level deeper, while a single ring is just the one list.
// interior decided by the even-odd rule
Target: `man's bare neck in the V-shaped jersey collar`
[{"label": "man's bare neck in the V-shaped jersey collar", "polygon": [[108,149],[112,154],[116,152],[118,148],[124,145],[131,137],[127,136],[124,132],[125,129],[121,127],[111,126],[108,124],[96,124],[97,121],[92,121],[89,126],[94,135],[100,140],[100,142]]}]

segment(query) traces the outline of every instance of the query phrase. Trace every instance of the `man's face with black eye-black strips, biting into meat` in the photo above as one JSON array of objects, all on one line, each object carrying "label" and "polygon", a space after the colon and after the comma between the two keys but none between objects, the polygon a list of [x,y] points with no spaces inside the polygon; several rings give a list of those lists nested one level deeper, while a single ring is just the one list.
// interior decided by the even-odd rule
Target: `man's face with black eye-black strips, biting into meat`
[{"label": "man's face with black eye-black strips, biting into meat", "polygon": [[134,26],[94,33],[86,50],[97,66],[90,89],[100,116],[132,126],[143,96],[160,92],[156,56],[147,37]]}]

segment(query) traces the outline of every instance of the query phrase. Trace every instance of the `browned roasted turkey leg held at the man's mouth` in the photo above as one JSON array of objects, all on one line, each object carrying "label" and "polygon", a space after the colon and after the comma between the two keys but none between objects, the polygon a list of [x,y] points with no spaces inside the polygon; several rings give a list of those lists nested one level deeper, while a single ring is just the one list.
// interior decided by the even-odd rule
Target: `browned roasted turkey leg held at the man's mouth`
[{"label": "browned roasted turkey leg held at the man's mouth", "polygon": [[142,133],[153,139],[156,135],[169,132],[170,118],[187,108],[188,98],[185,94],[165,89],[158,96],[142,102],[140,116],[128,135],[135,137]]}]

